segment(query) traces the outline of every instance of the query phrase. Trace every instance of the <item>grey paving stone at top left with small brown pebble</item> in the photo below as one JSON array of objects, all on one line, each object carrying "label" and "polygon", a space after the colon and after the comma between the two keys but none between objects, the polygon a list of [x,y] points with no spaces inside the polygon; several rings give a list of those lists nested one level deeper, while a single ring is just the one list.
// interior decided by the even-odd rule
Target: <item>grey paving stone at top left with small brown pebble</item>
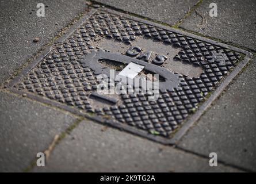
[{"label": "grey paving stone at top left with small brown pebble", "polygon": [[[45,5],[45,17],[36,16],[39,2]],[[83,0],[0,1],[0,83],[51,41],[85,7]],[[38,43],[33,43],[35,37],[39,37]]]}]

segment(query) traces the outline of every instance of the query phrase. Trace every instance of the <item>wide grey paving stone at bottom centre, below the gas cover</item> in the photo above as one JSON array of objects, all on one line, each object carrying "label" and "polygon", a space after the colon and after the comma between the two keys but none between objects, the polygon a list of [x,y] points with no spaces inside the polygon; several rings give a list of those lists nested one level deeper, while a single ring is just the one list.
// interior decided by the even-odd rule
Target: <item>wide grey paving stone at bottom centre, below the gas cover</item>
[{"label": "wide grey paving stone at bottom centre, below the gas cover", "polygon": [[[147,139],[83,121],[33,171],[239,171]],[[102,131],[104,130],[104,131]]]}]

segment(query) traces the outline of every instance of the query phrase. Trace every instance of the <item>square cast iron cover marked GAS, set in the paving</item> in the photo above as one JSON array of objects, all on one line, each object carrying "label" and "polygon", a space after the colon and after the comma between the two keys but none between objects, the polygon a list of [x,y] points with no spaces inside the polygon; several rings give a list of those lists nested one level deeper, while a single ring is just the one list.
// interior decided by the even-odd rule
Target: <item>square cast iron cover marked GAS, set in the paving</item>
[{"label": "square cast iron cover marked GAS, set in the paving", "polygon": [[[242,49],[178,29],[93,9],[7,87],[102,124],[175,144],[250,57]],[[109,77],[110,68],[118,73],[129,63],[137,72],[162,77],[158,99],[97,93],[98,75]]]}]

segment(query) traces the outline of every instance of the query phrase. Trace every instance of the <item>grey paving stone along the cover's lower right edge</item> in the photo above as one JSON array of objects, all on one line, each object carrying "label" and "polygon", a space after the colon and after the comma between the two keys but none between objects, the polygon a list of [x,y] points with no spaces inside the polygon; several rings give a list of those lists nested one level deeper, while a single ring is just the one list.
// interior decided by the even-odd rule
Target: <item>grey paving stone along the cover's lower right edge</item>
[{"label": "grey paving stone along the cover's lower right edge", "polygon": [[256,171],[256,60],[185,135],[179,147]]}]

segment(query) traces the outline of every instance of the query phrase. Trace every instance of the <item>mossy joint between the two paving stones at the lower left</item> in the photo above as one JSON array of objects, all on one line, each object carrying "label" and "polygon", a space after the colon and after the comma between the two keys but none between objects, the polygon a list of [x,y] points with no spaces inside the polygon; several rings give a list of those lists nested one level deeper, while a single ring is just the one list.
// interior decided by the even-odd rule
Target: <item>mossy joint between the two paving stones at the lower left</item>
[{"label": "mossy joint between the two paving stones at the lower left", "polygon": [[[60,143],[60,141],[62,141],[66,135],[70,135],[70,133],[78,127],[78,125],[83,121],[85,120],[85,118],[78,118],[77,120],[75,120],[70,126],[68,126],[68,128],[66,128],[63,132],[60,132],[59,133],[59,137],[58,139],[56,140],[56,143],[54,145],[54,147],[52,148],[51,152],[54,151],[55,147]],[[48,147],[47,147],[48,148]],[[47,150],[47,148],[45,148],[45,150]],[[44,152],[43,150],[41,152]],[[33,159],[29,166],[25,167],[22,171],[23,173],[28,173],[30,171],[33,170],[33,168],[36,166],[36,160],[38,158],[35,157],[35,159]],[[45,165],[47,165],[47,160],[45,160]]]}]

